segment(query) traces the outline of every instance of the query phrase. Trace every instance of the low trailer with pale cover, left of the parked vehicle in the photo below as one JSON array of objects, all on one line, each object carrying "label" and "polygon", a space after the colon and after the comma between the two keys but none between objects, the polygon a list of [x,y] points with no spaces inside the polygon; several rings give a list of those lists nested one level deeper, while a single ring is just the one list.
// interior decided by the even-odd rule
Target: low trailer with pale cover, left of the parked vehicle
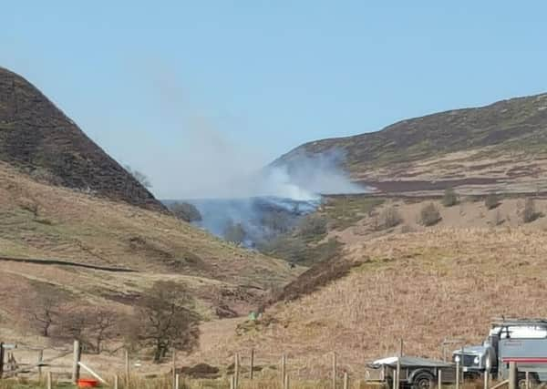
[{"label": "low trailer with pale cover, left of the parked vehicle", "polygon": [[[456,366],[434,359],[417,356],[393,356],[379,359],[367,364],[366,380],[387,384],[391,388],[412,387],[415,389],[428,389],[442,384],[454,384],[456,382]],[[395,385],[398,374],[398,386]],[[395,383],[395,384],[394,384]]]}]

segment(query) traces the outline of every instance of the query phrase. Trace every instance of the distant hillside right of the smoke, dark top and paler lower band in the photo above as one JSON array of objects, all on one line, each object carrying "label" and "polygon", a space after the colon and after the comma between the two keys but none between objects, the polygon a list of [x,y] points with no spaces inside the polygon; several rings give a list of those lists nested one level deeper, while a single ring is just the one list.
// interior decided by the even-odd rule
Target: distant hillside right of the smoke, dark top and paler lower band
[{"label": "distant hillside right of the smoke, dark top and paler lower band", "polygon": [[[343,153],[355,181],[385,191],[498,186],[506,191],[545,188],[547,94],[503,100],[412,118],[380,131],[309,142],[277,159]],[[440,183],[439,183],[440,181]]]}]

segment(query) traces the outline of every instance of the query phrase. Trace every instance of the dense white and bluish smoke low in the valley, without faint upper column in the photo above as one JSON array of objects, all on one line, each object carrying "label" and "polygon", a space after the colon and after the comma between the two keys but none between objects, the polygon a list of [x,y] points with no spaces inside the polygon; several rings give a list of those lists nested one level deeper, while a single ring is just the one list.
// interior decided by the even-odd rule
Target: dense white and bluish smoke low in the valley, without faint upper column
[{"label": "dense white and bluish smoke low in the valley, without faint upper column", "polygon": [[366,190],[352,183],[340,168],[343,160],[338,150],[298,153],[287,162],[278,161],[253,175],[233,179],[230,185],[211,187],[209,196],[190,200],[201,212],[198,225],[224,238],[233,226],[241,227],[242,243],[247,247],[270,241],[315,211],[322,195]]}]

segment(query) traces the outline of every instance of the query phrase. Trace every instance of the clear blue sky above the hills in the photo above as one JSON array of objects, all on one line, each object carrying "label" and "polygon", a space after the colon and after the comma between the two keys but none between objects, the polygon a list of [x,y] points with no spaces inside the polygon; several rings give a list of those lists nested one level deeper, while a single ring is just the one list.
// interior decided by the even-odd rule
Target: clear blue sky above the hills
[{"label": "clear blue sky above the hills", "polygon": [[547,89],[542,1],[4,3],[0,66],[160,198],[308,140]]}]

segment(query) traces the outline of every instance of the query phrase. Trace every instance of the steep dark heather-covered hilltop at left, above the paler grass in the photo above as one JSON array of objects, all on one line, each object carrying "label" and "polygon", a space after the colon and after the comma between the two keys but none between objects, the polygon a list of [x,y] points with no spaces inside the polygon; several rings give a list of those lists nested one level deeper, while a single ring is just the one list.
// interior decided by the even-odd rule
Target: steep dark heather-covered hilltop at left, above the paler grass
[{"label": "steep dark heather-covered hilltop at left, above the paler grass", "polygon": [[0,67],[0,160],[36,179],[150,210],[150,191],[25,78]]}]

